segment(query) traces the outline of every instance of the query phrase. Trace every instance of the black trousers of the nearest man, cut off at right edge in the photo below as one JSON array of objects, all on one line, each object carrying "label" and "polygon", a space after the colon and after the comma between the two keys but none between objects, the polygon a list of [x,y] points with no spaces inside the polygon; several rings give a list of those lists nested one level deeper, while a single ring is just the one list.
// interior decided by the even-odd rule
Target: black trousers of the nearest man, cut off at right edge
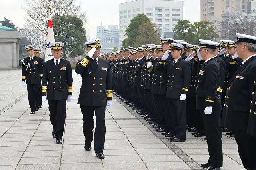
[{"label": "black trousers of the nearest man, cut off at right edge", "polygon": [[256,170],[256,137],[241,130],[235,130],[234,136],[244,168],[247,170]]}]

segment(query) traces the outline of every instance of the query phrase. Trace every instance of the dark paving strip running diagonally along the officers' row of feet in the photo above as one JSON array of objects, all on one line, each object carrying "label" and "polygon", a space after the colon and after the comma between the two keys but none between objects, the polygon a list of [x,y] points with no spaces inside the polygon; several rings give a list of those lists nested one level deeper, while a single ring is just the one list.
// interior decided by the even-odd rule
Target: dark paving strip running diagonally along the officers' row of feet
[{"label": "dark paving strip running diagonally along the officers' row of feet", "polygon": [[[126,104],[124,104],[121,100],[119,100],[118,97],[116,97],[116,100],[118,102],[120,102],[120,104],[122,104],[132,115],[134,115],[135,117],[138,117],[138,114],[136,114],[136,112],[134,112],[129,106],[127,106]],[[144,124],[146,126],[145,120],[140,116],[140,118],[138,118],[138,120],[140,120],[140,122],[142,124]],[[146,126],[146,128],[148,128]],[[157,135],[156,135],[156,131],[151,130],[150,128],[148,128],[153,134],[155,134],[155,136],[160,139]],[[158,133],[158,132],[157,132]],[[160,139],[161,140],[161,139]],[[161,140],[162,141],[162,140]],[[129,141],[130,142],[130,141]],[[163,141],[162,141],[163,142]],[[193,169],[198,169],[198,170],[203,170],[203,168],[200,167],[200,165],[198,163],[196,163],[192,158],[190,162],[186,161],[186,159],[184,159],[184,155],[186,155],[187,157],[189,157],[187,154],[185,154],[180,148],[178,149],[173,149],[172,147],[170,147],[170,145],[166,144],[166,142],[163,142],[168,148],[170,148],[170,150],[172,150],[172,152],[174,152],[182,161],[184,161],[192,170]],[[173,143],[171,143],[173,144]],[[182,155],[182,156],[181,156]],[[190,158],[190,157],[189,157]]]}]

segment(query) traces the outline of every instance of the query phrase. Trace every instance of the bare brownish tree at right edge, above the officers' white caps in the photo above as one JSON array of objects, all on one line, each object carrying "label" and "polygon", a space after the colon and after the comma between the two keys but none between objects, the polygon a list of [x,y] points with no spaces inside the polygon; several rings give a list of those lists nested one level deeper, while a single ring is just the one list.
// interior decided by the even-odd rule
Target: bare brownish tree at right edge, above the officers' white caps
[{"label": "bare brownish tree at right edge, above the officers' white caps", "polygon": [[255,35],[256,16],[238,11],[229,14],[229,17],[218,21],[222,39],[235,40],[236,33]]}]

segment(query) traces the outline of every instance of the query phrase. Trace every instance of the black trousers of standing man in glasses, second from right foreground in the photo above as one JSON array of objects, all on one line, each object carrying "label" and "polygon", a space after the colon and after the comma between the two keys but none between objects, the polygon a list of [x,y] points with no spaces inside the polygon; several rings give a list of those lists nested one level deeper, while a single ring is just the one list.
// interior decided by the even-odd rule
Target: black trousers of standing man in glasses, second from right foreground
[{"label": "black trousers of standing man in glasses, second from right foreground", "polygon": [[219,168],[222,167],[222,142],[220,135],[220,112],[212,107],[212,113],[206,115],[204,110],[200,110],[202,119],[204,121],[204,128],[206,131],[207,146],[209,152],[208,163],[210,166]]}]

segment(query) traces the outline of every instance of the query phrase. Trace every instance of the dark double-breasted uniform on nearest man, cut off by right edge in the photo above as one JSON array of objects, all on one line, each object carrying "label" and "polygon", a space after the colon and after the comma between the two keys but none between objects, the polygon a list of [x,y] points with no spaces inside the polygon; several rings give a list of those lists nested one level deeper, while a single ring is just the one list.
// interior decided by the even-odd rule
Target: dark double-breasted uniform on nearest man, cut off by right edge
[{"label": "dark double-breasted uniform on nearest man, cut off by right edge", "polygon": [[252,126],[251,122],[253,118],[255,120],[255,110],[250,110],[250,106],[255,104],[255,101],[252,101],[255,73],[256,55],[246,60],[230,78],[222,114],[222,126],[234,132],[239,156],[244,168],[248,170],[256,169],[255,150],[251,150],[255,149],[256,142],[252,136],[255,136],[255,126]]}]

